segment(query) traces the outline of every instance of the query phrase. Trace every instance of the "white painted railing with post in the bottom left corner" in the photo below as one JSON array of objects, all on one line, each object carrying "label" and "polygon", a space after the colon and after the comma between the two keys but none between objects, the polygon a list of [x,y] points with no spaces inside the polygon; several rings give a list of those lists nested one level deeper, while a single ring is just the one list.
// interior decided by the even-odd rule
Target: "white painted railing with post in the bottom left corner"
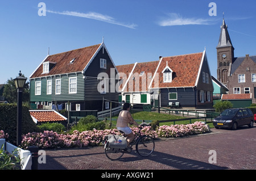
[{"label": "white painted railing with post in the bottom left corner", "polygon": [[31,170],[32,165],[32,158],[31,153],[28,150],[23,150],[18,148],[17,146],[14,146],[10,144],[9,142],[6,142],[5,139],[0,139],[0,148],[6,150],[8,153],[13,153],[15,149],[17,149],[17,153],[14,154],[15,157],[19,157],[21,159],[20,161],[20,167],[22,170]]}]

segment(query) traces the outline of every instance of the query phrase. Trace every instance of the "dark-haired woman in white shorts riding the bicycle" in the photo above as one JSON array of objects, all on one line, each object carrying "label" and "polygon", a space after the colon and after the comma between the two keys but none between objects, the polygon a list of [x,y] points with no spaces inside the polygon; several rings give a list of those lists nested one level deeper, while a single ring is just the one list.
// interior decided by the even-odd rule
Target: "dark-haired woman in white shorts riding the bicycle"
[{"label": "dark-haired woman in white shorts riding the bicycle", "polygon": [[125,103],[123,104],[123,110],[119,113],[118,119],[117,119],[117,129],[119,131],[124,132],[127,135],[127,146],[130,146],[129,144],[134,140],[134,134],[133,131],[131,131],[131,128],[129,127],[129,124],[135,124],[138,127],[138,123],[133,119],[131,116],[130,111],[130,104]]}]

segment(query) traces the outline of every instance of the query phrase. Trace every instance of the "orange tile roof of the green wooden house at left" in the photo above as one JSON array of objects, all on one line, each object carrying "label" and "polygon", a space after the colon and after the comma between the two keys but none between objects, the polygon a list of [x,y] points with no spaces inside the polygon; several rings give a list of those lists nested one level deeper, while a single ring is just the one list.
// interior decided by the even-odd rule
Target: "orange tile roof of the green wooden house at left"
[{"label": "orange tile roof of the green wooden house at left", "polygon": [[[44,62],[56,62],[55,66],[49,71],[49,73],[43,73],[43,64],[39,66],[38,69],[31,75],[30,78],[43,77],[48,75],[64,74],[82,71],[96,53],[97,49],[101,44],[92,45],[90,47],[80,48],[71,50],[68,52],[57,53],[50,55],[44,60]],[[70,61],[76,58],[73,64],[70,64]]]}]

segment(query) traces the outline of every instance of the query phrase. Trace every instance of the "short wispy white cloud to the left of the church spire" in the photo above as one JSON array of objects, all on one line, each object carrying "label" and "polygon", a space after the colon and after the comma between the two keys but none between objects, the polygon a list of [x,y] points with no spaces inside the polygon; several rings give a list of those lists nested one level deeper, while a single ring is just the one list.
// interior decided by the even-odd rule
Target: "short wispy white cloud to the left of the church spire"
[{"label": "short wispy white cloud to the left of the church spire", "polygon": [[189,25],[189,24],[197,24],[197,25],[209,25],[213,22],[216,22],[216,19],[203,19],[203,18],[183,18],[180,14],[170,13],[168,14],[168,18],[164,18],[160,20],[158,24],[160,26],[180,26],[180,25]]}]

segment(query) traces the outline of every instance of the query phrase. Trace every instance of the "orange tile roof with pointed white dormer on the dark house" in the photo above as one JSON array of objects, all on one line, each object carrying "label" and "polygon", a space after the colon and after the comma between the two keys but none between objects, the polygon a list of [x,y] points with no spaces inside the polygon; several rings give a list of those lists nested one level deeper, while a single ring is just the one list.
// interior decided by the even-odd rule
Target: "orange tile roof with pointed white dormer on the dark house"
[{"label": "orange tile roof with pointed white dormer on the dark house", "polygon": [[[156,72],[151,88],[194,87],[199,73],[203,52],[183,54],[180,56],[163,57]],[[162,71],[166,65],[174,72],[172,82],[163,82]],[[158,82],[156,82],[158,81]]]}]

